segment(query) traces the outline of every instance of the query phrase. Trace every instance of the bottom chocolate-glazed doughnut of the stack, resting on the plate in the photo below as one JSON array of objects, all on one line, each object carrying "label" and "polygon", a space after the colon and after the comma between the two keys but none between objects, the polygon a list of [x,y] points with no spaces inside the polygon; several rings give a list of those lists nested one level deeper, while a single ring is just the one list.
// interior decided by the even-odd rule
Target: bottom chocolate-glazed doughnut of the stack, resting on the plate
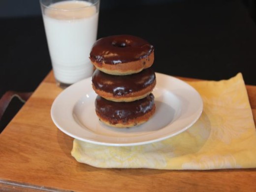
[{"label": "bottom chocolate-glazed doughnut of the stack, resting on the plate", "polygon": [[132,102],[113,102],[97,96],[95,106],[99,120],[116,128],[141,125],[147,122],[156,110],[153,94]]}]

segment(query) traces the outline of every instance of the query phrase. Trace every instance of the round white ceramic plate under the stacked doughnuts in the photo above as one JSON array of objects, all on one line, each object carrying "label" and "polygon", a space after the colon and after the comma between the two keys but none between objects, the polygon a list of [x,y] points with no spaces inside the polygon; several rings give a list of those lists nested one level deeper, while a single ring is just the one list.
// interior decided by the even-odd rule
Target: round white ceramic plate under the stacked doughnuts
[{"label": "round white ceramic plate under the stacked doughnuts", "polygon": [[131,146],[160,141],[190,128],[203,109],[201,96],[190,85],[172,76],[156,73],[153,91],[154,116],[133,128],[112,128],[101,123],[95,112],[96,93],[92,78],[66,88],[52,104],[55,125],[67,135],[94,144]]}]

